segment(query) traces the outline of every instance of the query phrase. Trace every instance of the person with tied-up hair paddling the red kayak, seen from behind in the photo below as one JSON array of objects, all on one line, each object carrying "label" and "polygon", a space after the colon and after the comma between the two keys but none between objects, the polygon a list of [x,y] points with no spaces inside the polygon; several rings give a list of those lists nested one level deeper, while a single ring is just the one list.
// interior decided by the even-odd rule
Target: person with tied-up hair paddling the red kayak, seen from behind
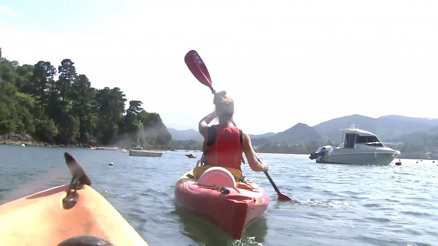
[{"label": "person with tied-up hair paddling the red kayak, seen from behind", "polygon": [[[233,124],[233,99],[227,96],[225,91],[221,91],[215,94],[213,103],[215,111],[199,122],[199,132],[204,137],[201,164],[236,168],[241,171],[240,164],[244,152],[253,171],[267,171],[268,166],[257,160],[249,135]],[[219,124],[208,126],[216,117]]]}]

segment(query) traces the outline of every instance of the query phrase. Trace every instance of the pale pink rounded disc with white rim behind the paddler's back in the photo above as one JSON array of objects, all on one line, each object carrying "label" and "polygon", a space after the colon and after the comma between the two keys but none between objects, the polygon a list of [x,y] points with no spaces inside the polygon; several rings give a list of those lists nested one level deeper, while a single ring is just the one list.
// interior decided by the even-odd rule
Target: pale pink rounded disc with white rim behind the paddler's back
[{"label": "pale pink rounded disc with white rim behind the paddler's back", "polygon": [[208,168],[201,174],[197,182],[199,185],[236,188],[233,174],[221,166]]}]

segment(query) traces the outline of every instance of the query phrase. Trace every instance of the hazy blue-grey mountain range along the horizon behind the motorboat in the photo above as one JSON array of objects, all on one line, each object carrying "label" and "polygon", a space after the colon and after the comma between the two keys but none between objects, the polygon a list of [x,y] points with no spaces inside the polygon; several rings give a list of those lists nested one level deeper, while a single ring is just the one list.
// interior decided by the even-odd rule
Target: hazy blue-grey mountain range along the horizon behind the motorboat
[{"label": "hazy blue-grey mountain range along the horizon behind the motorboat", "polygon": [[[435,148],[438,151],[438,119],[402,115],[385,115],[379,118],[347,115],[322,122],[313,127],[298,123],[286,131],[259,135],[250,134],[250,137],[253,146],[264,146],[270,152],[280,151],[274,147],[275,145],[294,146],[295,144],[307,143],[308,147],[313,148],[314,144],[328,141],[337,145],[342,140],[342,132],[339,129],[349,128],[350,124],[354,124],[356,128],[376,133],[381,141],[403,143],[403,153],[419,155],[421,152],[433,152]],[[168,128],[168,131],[173,140],[203,141],[201,134],[195,130],[179,131]],[[312,143],[310,144],[310,142]],[[284,148],[286,149],[281,151],[291,151],[289,147]],[[308,149],[302,151],[308,151]]]}]

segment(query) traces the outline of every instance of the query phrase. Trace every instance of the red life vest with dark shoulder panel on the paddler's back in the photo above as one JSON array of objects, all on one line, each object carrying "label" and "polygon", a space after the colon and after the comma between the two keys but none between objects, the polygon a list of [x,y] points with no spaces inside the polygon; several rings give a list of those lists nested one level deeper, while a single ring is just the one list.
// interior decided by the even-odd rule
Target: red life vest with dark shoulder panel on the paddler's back
[{"label": "red life vest with dark shoulder panel on the paddler's back", "polygon": [[214,125],[208,129],[206,146],[204,164],[240,170],[240,162],[243,160],[240,129]]}]

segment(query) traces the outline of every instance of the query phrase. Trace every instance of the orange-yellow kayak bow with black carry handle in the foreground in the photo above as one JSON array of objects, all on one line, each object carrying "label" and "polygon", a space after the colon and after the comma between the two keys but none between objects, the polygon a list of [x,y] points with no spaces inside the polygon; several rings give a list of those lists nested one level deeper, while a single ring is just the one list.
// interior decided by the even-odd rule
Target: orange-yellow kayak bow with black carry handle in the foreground
[{"label": "orange-yellow kayak bow with black carry handle in the foreground", "polygon": [[[73,179],[0,205],[0,245],[141,245],[141,235],[96,190],[83,167],[64,153]],[[88,244],[79,244],[79,242]]]}]

